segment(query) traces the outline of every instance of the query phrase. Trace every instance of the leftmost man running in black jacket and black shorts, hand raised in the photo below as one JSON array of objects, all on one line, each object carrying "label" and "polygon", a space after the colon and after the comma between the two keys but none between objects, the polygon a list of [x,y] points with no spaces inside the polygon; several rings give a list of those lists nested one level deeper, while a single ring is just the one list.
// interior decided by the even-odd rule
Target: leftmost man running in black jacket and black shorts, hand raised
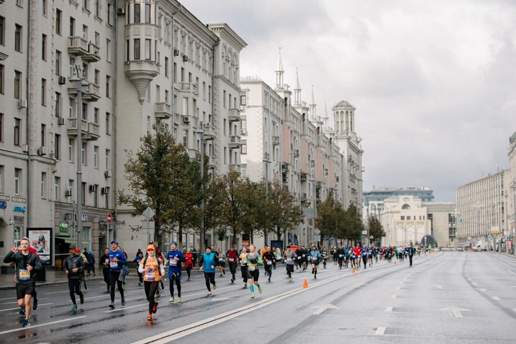
[{"label": "leftmost man running in black jacket and black shorts, hand raised", "polygon": [[40,258],[28,250],[29,246],[30,241],[24,237],[21,239],[21,252],[13,246],[11,252],[4,257],[4,263],[16,263],[16,299],[18,306],[25,307],[22,327],[30,326],[31,293],[35,289],[35,274],[41,270]]}]

